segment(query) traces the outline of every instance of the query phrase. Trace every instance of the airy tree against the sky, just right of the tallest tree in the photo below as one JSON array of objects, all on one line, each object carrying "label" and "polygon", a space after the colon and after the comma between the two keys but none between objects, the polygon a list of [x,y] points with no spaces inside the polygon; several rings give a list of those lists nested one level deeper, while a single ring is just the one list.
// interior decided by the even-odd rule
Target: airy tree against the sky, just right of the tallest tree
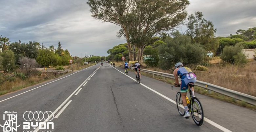
[{"label": "airy tree against the sky, just right of the tallest tree", "polygon": [[215,52],[219,43],[215,38],[217,29],[214,28],[213,22],[204,19],[203,13],[199,11],[189,15],[187,20],[186,34],[191,37],[192,43],[199,43],[206,51]]}]

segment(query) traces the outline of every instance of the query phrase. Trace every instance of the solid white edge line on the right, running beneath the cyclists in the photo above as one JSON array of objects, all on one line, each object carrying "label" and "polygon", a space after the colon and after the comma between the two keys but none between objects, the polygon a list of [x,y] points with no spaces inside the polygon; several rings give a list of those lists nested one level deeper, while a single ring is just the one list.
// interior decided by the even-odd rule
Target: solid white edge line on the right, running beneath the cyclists
[{"label": "solid white edge line on the right, running beneath the cyclists", "polygon": [[[109,65],[109,66],[110,66],[110,65]],[[113,66],[112,66],[112,67],[113,67]],[[117,70],[117,68],[115,68],[115,67],[113,67],[113,68]],[[117,71],[119,71],[119,70],[117,70]],[[121,71],[119,71],[119,72],[121,72]],[[124,74],[123,72],[121,72],[121,73]],[[129,78],[132,79],[133,81],[136,81],[136,80],[133,79],[132,77],[130,77],[130,76],[126,75],[126,74],[124,74],[124,75],[127,76],[127,77],[129,77]],[[154,93],[156,93],[156,94],[162,96],[163,98],[169,100],[170,102],[176,104],[176,101],[174,101],[174,100],[172,100],[172,99],[166,97],[165,95],[160,94],[159,92],[157,92],[157,91],[155,91],[154,89],[152,89],[152,88],[150,88],[150,87],[144,85],[143,83],[139,83],[139,84],[142,85],[142,86],[144,86],[145,88],[147,88],[147,89],[153,91]],[[207,123],[209,123],[209,124],[211,124],[211,125],[213,125],[213,126],[215,126],[215,127],[217,127],[217,128],[219,128],[220,130],[222,130],[222,131],[224,131],[224,132],[232,132],[232,131],[226,129],[225,127],[223,127],[223,126],[221,126],[221,125],[219,125],[219,124],[217,124],[217,123],[215,123],[215,122],[209,120],[209,119],[206,118],[206,117],[204,117],[204,121],[207,122]]]}]

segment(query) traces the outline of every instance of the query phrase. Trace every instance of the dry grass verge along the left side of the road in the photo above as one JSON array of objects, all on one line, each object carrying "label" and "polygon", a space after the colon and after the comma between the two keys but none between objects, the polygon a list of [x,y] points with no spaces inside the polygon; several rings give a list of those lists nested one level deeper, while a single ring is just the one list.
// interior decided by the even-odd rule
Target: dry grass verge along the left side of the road
[{"label": "dry grass verge along the left side of the road", "polygon": [[[79,70],[79,69],[89,67],[89,66],[92,66],[92,65],[94,65],[94,64],[91,64],[91,65],[73,65],[72,69],[73,70]],[[65,67],[67,67],[65,69],[69,69],[69,68],[71,69],[71,66],[70,67],[65,66]],[[22,88],[26,88],[26,87],[44,82],[44,81],[48,81],[48,80],[51,80],[51,79],[54,79],[54,78],[58,78],[60,76],[62,76],[62,75],[59,75],[59,76],[56,76],[56,77],[54,77],[54,76],[52,76],[52,77],[39,77],[37,75],[32,75],[32,76],[28,77],[25,80],[21,80],[20,78],[16,77],[14,79],[14,81],[11,81],[11,82],[10,81],[5,81],[5,82],[0,84],[0,95],[4,95],[4,94],[7,94],[7,93],[10,93],[10,92],[22,89]]]}]

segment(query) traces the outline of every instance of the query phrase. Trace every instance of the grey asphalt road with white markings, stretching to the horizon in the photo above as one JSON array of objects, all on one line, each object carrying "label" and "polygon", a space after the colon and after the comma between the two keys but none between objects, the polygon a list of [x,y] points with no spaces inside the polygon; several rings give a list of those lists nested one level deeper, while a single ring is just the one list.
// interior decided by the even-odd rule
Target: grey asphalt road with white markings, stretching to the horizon
[{"label": "grey asphalt road with white markings, stretching to the horizon", "polygon": [[104,63],[0,96],[0,124],[5,123],[4,111],[15,111],[21,124],[17,131],[23,132],[24,112],[49,110],[54,132],[256,131],[256,111],[196,93],[206,117],[197,126],[179,115],[173,102],[177,88],[145,76],[141,84],[133,79],[135,73],[126,76],[123,68]]}]

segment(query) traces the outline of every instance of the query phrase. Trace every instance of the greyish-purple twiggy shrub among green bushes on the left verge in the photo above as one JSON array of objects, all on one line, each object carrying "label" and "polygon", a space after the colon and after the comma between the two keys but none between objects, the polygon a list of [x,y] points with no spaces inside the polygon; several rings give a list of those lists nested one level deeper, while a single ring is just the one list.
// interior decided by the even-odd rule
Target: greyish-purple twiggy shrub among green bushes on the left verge
[{"label": "greyish-purple twiggy shrub among green bushes on the left verge", "polygon": [[19,60],[19,63],[20,63],[20,68],[26,70],[27,76],[29,76],[30,73],[33,70],[35,70],[35,68],[38,66],[35,59],[31,59],[31,58],[28,58],[28,57],[22,57]]}]

